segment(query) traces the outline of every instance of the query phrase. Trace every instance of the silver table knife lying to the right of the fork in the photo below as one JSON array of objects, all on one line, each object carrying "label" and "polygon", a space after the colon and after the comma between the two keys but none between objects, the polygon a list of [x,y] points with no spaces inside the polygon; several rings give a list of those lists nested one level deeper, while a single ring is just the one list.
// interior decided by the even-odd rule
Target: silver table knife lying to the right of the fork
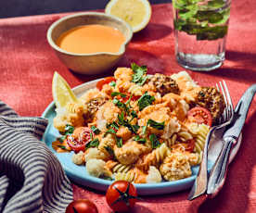
[{"label": "silver table knife lying to the right of the fork", "polygon": [[225,181],[225,176],[228,167],[228,158],[231,148],[237,143],[237,138],[244,126],[247,114],[249,111],[250,103],[256,93],[256,83],[252,84],[248,90],[242,95],[235,108],[233,122],[227,127],[224,132],[223,141],[224,146],[222,151],[213,165],[207,186],[207,194],[215,196],[222,189]]}]

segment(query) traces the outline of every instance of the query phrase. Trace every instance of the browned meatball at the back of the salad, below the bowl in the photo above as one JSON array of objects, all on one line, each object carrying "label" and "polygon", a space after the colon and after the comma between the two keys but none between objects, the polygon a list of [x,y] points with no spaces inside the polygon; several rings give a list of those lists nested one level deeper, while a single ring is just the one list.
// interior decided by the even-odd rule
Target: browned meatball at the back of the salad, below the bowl
[{"label": "browned meatball at the back of the salad, below the bowl", "polygon": [[166,76],[160,73],[155,74],[150,78],[148,84],[153,85],[157,92],[162,96],[164,94],[179,94],[180,90],[176,81],[174,81],[170,76]]}]

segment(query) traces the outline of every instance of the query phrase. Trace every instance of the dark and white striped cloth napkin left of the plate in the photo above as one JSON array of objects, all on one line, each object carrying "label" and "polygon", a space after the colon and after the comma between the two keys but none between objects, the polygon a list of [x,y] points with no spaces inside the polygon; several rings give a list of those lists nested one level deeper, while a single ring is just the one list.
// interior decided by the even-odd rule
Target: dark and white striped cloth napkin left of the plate
[{"label": "dark and white striped cloth napkin left of the plate", "polygon": [[19,117],[0,101],[0,212],[65,212],[72,188],[55,157],[39,141],[42,118]]}]

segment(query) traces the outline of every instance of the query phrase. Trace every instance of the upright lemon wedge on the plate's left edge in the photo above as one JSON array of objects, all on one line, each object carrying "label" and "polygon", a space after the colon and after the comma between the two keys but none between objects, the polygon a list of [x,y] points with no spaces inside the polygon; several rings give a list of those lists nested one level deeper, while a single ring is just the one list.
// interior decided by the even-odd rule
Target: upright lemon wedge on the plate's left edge
[{"label": "upright lemon wedge on the plate's left edge", "polygon": [[71,91],[70,85],[56,71],[52,83],[53,99],[56,107],[66,107],[68,103],[77,103],[76,95]]}]

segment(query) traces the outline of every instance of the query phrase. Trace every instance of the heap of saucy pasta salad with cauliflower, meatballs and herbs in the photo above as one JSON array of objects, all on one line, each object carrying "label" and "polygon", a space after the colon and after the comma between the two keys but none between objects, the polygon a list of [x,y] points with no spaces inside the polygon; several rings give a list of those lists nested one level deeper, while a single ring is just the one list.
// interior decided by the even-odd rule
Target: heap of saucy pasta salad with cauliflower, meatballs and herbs
[{"label": "heap of saucy pasta salad with cauliflower, meatballs and herbs", "polygon": [[186,71],[147,75],[146,66],[118,68],[78,102],[57,108],[57,152],[108,180],[176,181],[200,163],[210,126],[224,111],[214,87],[201,87]]}]

